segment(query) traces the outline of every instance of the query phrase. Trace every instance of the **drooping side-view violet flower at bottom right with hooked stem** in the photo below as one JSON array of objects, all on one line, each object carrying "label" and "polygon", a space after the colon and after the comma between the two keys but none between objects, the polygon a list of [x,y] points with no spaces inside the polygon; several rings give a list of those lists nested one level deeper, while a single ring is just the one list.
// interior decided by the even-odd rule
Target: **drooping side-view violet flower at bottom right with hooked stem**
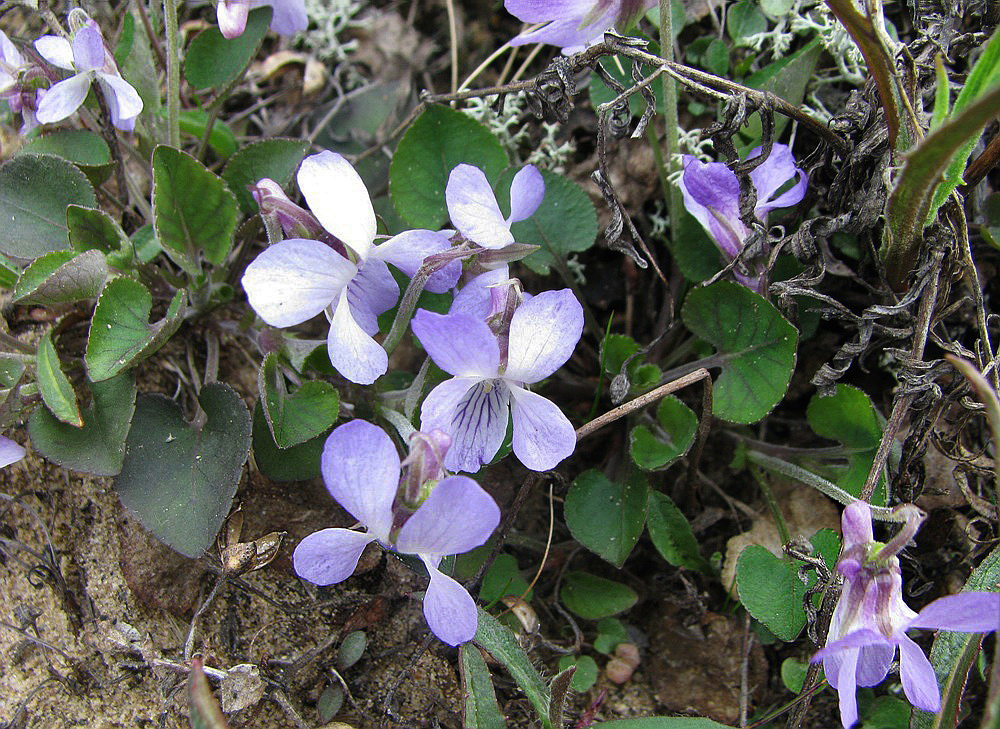
[{"label": "drooping side-view violet flower at bottom right with hooked stem", "polygon": [[1000,630],[1000,594],[962,592],[930,603],[919,613],[903,602],[903,578],[896,556],[923,520],[905,505],[906,523],[887,544],[875,541],[871,509],[855,501],[844,509],[844,547],[837,571],[845,579],[830,621],[826,647],[813,656],[823,661],[827,681],[840,696],[844,727],[858,720],[858,686],[875,686],[886,677],[899,648],[899,675],[910,703],[938,711],[941,693],[927,656],[907,635],[910,628],[982,633]]}]

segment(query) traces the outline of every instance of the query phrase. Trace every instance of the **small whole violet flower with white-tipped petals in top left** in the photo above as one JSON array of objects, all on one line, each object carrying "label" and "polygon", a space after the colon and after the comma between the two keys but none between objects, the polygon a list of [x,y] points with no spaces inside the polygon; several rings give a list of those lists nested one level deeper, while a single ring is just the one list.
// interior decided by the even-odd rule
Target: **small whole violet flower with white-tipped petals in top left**
[{"label": "small whole violet flower with white-tipped petals in top left", "polygon": [[142,111],[142,99],[118,72],[97,23],[79,8],[70,12],[69,22],[73,28],[72,43],[54,35],[43,35],[35,41],[42,58],[53,66],[76,72],[54,84],[42,97],[36,112],[38,121],[52,124],[68,117],[80,108],[90,84],[97,81],[107,99],[111,122],[122,131],[131,132]]}]

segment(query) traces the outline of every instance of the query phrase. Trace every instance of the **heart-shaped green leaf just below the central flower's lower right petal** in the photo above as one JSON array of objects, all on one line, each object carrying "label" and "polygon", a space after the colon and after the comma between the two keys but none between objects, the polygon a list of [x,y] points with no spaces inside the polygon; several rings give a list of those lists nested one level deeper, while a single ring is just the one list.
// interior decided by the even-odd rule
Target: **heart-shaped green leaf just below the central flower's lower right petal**
[{"label": "heart-shaped green leaf just below the central flower's lower right petal", "polygon": [[580,544],[621,567],[642,534],[648,490],[638,471],[618,482],[600,471],[584,471],[566,494],[566,526]]}]

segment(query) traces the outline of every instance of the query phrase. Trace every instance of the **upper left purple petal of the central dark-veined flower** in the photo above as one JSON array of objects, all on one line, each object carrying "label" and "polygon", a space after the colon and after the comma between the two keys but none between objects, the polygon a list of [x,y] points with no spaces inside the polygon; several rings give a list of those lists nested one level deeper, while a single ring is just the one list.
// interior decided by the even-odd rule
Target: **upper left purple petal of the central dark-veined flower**
[{"label": "upper left purple petal of the central dark-veined flower", "polygon": [[[500,346],[486,322],[468,314],[435,314],[417,309],[410,329],[434,364],[456,377],[497,376]],[[449,432],[447,428],[442,428]]]}]

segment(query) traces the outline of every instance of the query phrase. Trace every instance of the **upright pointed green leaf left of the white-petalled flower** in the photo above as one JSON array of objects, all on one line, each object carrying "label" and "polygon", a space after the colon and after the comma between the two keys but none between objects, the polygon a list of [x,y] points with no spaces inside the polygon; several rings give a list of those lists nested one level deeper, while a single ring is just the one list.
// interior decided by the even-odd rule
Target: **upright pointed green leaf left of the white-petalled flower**
[{"label": "upright pointed green leaf left of the white-petalled flower", "polygon": [[153,150],[153,225],[171,260],[194,276],[200,259],[221,265],[233,245],[236,198],[189,154],[161,144]]}]

